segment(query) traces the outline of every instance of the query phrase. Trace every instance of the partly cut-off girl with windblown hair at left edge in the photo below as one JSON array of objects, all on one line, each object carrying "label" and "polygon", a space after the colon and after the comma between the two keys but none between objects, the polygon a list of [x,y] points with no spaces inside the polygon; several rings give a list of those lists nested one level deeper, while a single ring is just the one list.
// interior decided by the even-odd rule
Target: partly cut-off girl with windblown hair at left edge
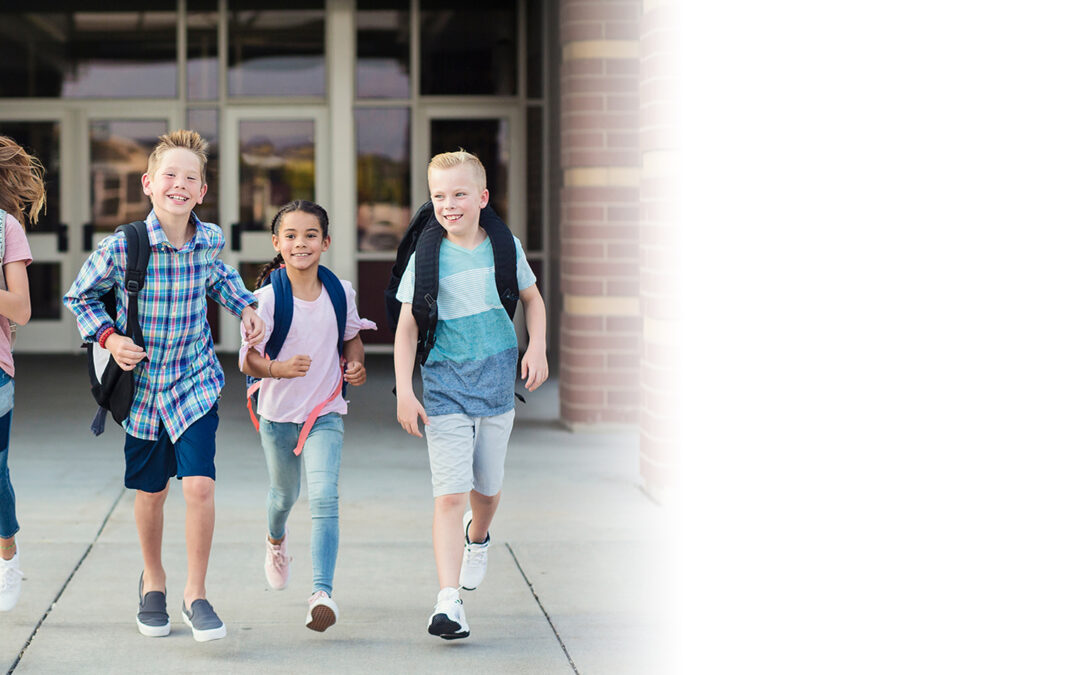
[{"label": "partly cut-off girl with windblown hair at left edge", "polygon": [[3,227],[3,282],[0,286],[0,611],[18,602],[23,572],[18,567],[15,534],[15,490],[8,471],[8,441],[15,404],[15,362],[11,356],[11,322],[30,320],[30,286],[26,266],[30,245],[24,222],[35,224],[45,205],[45,170],[17,143],[0,136],[0,226]]}]

